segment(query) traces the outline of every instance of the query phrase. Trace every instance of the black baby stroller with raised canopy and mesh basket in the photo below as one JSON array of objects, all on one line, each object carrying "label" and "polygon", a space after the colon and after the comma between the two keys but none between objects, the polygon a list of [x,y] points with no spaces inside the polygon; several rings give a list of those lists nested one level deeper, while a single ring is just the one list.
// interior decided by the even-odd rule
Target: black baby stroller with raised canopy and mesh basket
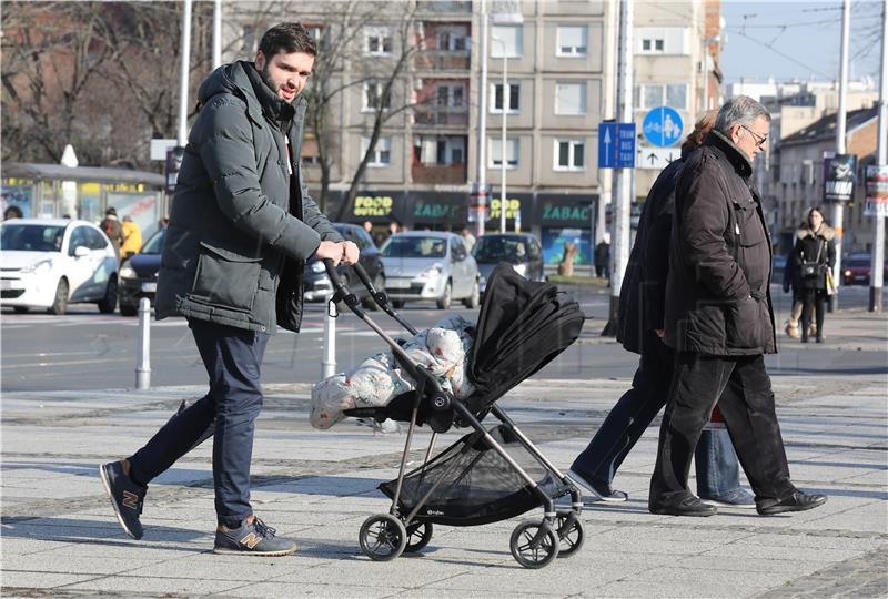
[{"label": "black baby stroller with raised canopy and mesh basket", "polygon": [[[416,329],[392,309],[366,272],[360,265],[353,268],[376,304],[415,335]],[[371,559],[387,561],[425,547],[435,524],[488,524],[542,506],[542,520],[525,520],[515,528],[512,555],[526,568],[542,568],[556,556],[575,554],[584,540],[578,489],[518,430],[496,400],[576,341],[584,319],[579,305],[554,285],[529,282],[507,264],[497,266],[488,278],[474,335],[468,375],[476,389],[460,399],[442,390],[437,380],[361,309],[329,261],[326,271],[334,288],[332,301],[344,303],[375,331],[416,382],[415,390],[385,406],[345,410],[346,416],[410,423],[397,478],[380,485],[392,498],[392,507],[389,514],[364,521],[360,532],[363,551]],[[487,414],[501,424],[485,428],[481,420]],[[424,463],[406,473],[414,429],[424,424],[433,430]],[[452,426],[473,432],[430,460],[437,434]],[[555,499],[566,495],[571,507],[556,510]]]}]

